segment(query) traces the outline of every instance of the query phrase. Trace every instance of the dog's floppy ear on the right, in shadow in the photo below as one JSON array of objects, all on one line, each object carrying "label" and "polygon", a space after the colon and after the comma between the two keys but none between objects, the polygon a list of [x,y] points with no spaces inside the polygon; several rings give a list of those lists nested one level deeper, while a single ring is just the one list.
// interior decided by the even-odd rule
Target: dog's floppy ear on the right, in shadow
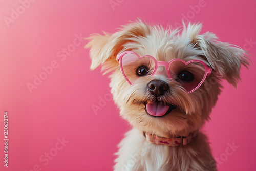
[{"label": "dog's floppy ear on the right, in shadow", "polygon": [[[246,51],[238,46],[217,41],[213,33],[206,32],[199,35],[201,25],[188,25],[185,28],[186,36],[190,36],[190,44],[203,51],[203,57],[209,62],[211,68],[234,87],[240,80],[241,65],[249,65]],[[184,32],[184,31],[183,31]]]}]

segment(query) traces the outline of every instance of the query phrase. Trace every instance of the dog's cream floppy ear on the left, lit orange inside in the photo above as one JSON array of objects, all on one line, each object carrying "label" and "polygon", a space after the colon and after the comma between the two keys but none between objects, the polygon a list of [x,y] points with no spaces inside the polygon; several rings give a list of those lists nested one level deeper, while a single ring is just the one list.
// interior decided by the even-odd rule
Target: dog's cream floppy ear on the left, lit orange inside
[{"label": "dog's cream floppy ear on the left, lit orange inside", "polygon": [[136,38],[144,37],[149,33],[148,25],[138,20],[136,23],[123,26],[120,31],[112,35],[104,32],[104,35],[95,34],[88,37],[87,39],[90,39],[90,42],[86,45],[86,48],[91,48],[91,70],[102,64],[102,70],[106,70],[106,72],[115,69],[118,66],[116,55],[122,50],[131,50],[124,45],[132,43]]}]

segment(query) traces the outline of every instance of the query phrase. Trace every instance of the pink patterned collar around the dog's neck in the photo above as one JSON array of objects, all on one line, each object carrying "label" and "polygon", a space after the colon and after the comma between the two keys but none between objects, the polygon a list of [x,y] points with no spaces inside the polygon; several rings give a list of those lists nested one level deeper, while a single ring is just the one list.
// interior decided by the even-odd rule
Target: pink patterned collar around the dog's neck
[{"label": "pink patterned collar around the dog's neck", "polygon": [[191,132],[188,136],[175,137],[175,138],[164,138],[157,135],[152,135],[147,132],[143,132],[146,140],[152,144],[162,144],[168,146],[187,146],[192,140],[194,140],[199,134],[199,130]]}]

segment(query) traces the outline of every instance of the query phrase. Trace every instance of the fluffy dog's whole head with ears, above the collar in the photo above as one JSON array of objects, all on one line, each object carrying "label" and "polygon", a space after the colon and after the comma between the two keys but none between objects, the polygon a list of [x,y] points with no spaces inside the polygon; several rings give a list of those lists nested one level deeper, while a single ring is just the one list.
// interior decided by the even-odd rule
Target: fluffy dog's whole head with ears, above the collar
[{"label": "fluffy dog's whole head with ears, above the collar", "polygon": [[[200,30],[200,24],[179,31],[139,21],[112,35],[90,37],[91,69],[103,64],[103,70],[112,71],[114,101],[121,116],[139,130],[159,136],[187,135],[209,118],[220,94],[221,78],[236,86],[241,64],[248,65],[245,52],[216,41],[212,33],[200,35]],[[132,51],[137,59],[118,62],[117,55],[126,51]],[[132,57],[126,56],[126,61]],[[168,65],[173,59],[184,62]],[[155,60],[164,65],[157,68]],[[205,70],[197,70],[200,63],[189,63],[191,60],[200,60],[212,69],[193,92],[186,86],[201,79]]]}]

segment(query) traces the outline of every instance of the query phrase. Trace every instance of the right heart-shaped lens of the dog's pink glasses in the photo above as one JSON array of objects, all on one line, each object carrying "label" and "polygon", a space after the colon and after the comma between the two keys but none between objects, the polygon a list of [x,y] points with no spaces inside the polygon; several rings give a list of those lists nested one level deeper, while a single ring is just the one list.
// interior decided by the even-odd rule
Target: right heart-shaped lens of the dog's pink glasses
[{"label": "right heart-shaped lens of the dog's pink glasses", "polygon": [[191,62],[187,65],[182,61],[173,61],[169,67],[170,76],[190,92],[197,88],[204,79],[205,68],[200,62]]}]

